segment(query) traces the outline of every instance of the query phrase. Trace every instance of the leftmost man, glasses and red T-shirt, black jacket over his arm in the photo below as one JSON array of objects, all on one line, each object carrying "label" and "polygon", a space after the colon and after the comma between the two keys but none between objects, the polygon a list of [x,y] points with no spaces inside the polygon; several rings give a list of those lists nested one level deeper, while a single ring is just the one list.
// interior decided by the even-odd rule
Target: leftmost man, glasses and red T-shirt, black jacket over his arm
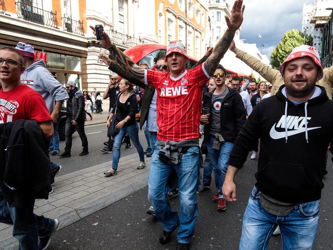
[{"label": "leftmost man, glasses and red T-shirt, black jacket over his arm", "polygon": [[[19,119],[36,120],[44,136],[50,139],[53,136],[53,126],[45,101],[36,91],[20,84],[20,75],[25,70],[23,64],[23,57],[16,50],[9,47],[0,49],[0,81],[2,82],[2,89],[0,90],[0,124],[14,122]],[[2,138],[2,142],[5,140],[5,137]],[[39,142],[35,141],[35,143],[37,147]],[[41,145],[44,146],[44,141],[41,142]],[[8,148],[5,150],[7,151]],[[29,150],[28,148],[17,150],[16,157],[24,158],[25,154],[28,154],[27,152],[31,152]],[[45,151],[47,152],[47,149]],[[7,153],[8,155],[10,154],[9,151]],[[38,154],[41,153],[38,152]],[[47,153],[46,156],[46,162],[49,162]],[[41,162],[38,163],[41,164]],[[14,167],[16,168],[17,166],[9,166],[9,168]],[[46,164],[44,168],[39,166],[39,169],[41,169],[38,173],[39,177],[49,177],[53,182],[50,165]],[[47,175],[47,171],[49,175]],[[4,174],[3,169],[1,173]],[[45,218],[44,216],[37,216],[33,213],[36,194],[33,192],[32,186],[36,183],[32,182],[36,181],[38,176],[35,176],[34,180],[30,180],[29,184],[25,184],[23,189],[14,189],[14,191],[9,189],[7,183],[3,182],[4,176],[0,177],[0,179],[0,222],[13,225],[13,236],[18,239],[19,249],[46,249],[51,241],[52,234],[57,230],[59,221]],[[45,179],[43,181],[48,180]],[[50,185],[51,180],[46,184]]]}]

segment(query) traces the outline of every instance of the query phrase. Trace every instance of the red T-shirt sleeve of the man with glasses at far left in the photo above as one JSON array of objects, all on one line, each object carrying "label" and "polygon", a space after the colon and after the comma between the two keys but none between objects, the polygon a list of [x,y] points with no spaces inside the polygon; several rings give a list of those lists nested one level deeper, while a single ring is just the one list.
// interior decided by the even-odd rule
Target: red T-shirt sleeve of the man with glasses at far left
[{"label": "red T-shirt sleeve of the man with glasses at far left", "polygon": [[52,120],[45,101],[40,94],[33,94],[25,102],[26,114],[29,120],[37,122]]}]

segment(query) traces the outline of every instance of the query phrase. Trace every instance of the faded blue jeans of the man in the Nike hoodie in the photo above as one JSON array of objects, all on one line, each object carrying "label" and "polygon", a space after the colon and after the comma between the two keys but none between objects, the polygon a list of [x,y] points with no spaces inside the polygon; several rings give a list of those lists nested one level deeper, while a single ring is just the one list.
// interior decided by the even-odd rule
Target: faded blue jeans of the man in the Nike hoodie
[{"label": "faded blue jeans of the man in the Nike hoodie", "polygon": [[279,225],[282,249],[313,249],[319,223],[319,200],[297,204],[287,216],[266,212],[260,192],[253,188],[243,217],[239,249],[267,249],[269,238]]}]

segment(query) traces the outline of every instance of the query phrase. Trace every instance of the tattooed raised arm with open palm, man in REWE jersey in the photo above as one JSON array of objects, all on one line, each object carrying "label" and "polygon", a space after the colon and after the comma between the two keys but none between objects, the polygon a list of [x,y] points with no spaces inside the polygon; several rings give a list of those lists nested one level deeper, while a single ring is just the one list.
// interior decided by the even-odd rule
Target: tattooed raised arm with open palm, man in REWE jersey
[{"label": "tattooed raised arm with open palm, man in REWE jersey", "polygon": [[203,66],[209,75],[212,75],[223,58],[225,52],[228,50],[232,40],[234,39],[236,31],[239,29],[243,22],[243,12],[245,6],[243,0],[236,0],[231,12],[231,18],[225,16],[225,22],[227,29],[223,34],[223,37],[216,44],[213,53],[204,62]]}]

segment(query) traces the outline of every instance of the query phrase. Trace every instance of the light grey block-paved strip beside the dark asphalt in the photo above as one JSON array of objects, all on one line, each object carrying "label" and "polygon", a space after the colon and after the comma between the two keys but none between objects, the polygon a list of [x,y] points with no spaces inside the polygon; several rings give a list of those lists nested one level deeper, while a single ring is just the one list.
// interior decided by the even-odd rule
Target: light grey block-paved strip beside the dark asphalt
[{"label": "light grey block-paved strip beside the dark asphalt", "polygon": [[[95,116],[98,122],[104,115]],[[58,218],[58,230],[70,225],[147,186],[150,159],[145,159],[146,168],[137,170],[137,153],[121,157],[118,174],[111,177],[105,177],[103,172],[111,168],[112,161],[56,177],[53,193],[48,200],[36,200],[34,213]],[[17,248],[12,226],[0,223],[0,249]]]}]

